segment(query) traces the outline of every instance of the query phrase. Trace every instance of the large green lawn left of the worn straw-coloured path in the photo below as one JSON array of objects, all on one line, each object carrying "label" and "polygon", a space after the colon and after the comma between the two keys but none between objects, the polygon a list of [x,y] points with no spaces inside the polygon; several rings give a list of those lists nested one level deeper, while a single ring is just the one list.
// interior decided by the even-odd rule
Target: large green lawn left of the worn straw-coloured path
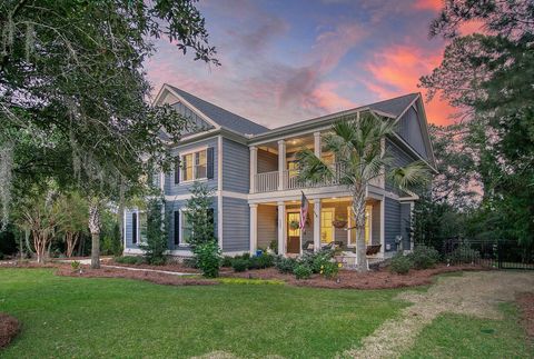
[{"label": "large green lawn left of the worn straw-coloured path", "polygon": [[398,290],[290,286],[170,287],[0,269],[0,310],[22,322],[2,358],[329,358],[358,346],[406,303]]}]

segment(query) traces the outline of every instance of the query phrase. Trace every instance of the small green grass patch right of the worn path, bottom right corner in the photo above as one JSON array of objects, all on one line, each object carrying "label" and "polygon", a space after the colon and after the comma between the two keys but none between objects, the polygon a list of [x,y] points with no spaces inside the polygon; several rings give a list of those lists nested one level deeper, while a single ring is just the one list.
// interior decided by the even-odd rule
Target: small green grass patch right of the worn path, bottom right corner
[{"label": "small green grass patch right of the worn path, bottom right corner", "polygon": [[532,358],[517,307],[502,303],[504,320],[446,313],[423,330],[403,358]]}]

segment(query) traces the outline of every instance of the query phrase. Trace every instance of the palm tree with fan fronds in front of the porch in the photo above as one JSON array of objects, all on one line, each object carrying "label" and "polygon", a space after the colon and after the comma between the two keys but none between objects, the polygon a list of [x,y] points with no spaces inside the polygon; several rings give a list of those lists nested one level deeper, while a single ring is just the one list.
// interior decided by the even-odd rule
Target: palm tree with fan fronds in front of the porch
[{"label": "palm tree with fan fronds in front of the porch", "polygon": [[[383,142],[395,131],[395,123],[389,119],[380,119],[373,113],[348,116],[332,127],[332,133],[324,138],[325,151],[334,153],[335,168],[325,163],[309,149],[297,153],[299,168],[298,180],[315,185],[336,179],[339,185],[347,186],[353,197],[352,211],[355,218],[356,258],[358,270],[367,270],[365,247],[365,190],[367,185],[386,176],[400,190],[409,190],[427,182],[429,173],[422,161],[405,167],[393,166]],[[387,169],[387,170],[386,170]]]}]

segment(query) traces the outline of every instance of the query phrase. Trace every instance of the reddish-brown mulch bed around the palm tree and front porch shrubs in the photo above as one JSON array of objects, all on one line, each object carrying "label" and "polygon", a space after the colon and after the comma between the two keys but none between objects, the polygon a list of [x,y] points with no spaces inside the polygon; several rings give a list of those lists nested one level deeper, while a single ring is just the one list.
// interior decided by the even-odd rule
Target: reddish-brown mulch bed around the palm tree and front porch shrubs
[{"label": "reddish-brown mulch bed around the palm tree and front porch shrubs", "polygon": [[310,279],[297,280],[293,275],[279,273],[275,268],[249,270],[246,272],[221,271],[221,277],[250,279],[279,279],[298,287],[337,288],[337,289],[392,289],[403,287],[426,286],[433,282],[433,277],[441,273],[485,270],[478,266],[438,266],[432,269],[411,270],[408,275],[395,275],[387,269],[358,273],[352,270],[340,270],[339,281],[314,275]]}]

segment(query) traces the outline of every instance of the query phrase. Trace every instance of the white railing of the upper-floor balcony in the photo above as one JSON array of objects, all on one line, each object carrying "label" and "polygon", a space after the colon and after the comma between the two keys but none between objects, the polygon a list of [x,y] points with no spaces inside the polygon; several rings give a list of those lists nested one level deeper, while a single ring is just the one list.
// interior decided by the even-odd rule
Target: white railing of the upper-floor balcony
[{"label": "white railing of the upper-floor balcony", "polygon": [[[291,190],[300,188],[310,188],[310,187],[328,187],[328,186],[338,186],[343,177],[343,163],[333,164],[334,178],[329,180],[322,181],[319,183],[310,183],[306,181],[298,180],[297,170],[285,170],[283,172],[283,187],[281,190]],[[279,172],[264,172],[256,174],[256,193],[261,192],[271,192],[277,191],[279,183]],[[375,178],[370,185],[383,188],[383,178]]]}]

